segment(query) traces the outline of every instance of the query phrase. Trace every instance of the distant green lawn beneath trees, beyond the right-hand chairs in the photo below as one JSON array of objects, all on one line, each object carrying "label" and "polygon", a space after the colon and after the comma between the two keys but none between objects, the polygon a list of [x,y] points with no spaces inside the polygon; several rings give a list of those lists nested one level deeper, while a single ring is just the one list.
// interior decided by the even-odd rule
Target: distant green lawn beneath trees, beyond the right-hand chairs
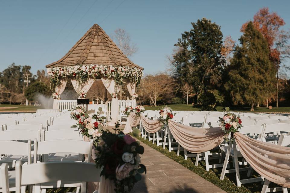
[{"label": "distant green lawn beneath trees, beyond the right-hand chairs", "polygon": [[[145,110],[159,110],[162,107],[164,107],[165,105],[162,106],[145,106]],[[178,105],[167,105],[169,107],[171,107],[173,110],[176,111],[198,111],[198,108],[196,106],[192,106],[192,105],[186,105],[186,104],[178,104]],[[217,106],[216,109],[217,111],[223,111],[224,107],[222,106]],[[230,107],[231,111],[241,111],[241,112],[250,112],[250,107],[238,107],[238,106],[232,106]],[[254,112],[290,112],[290,107],[272,107],[271,110],[269,110],[266,107],[255,107],[255,111]]]}]

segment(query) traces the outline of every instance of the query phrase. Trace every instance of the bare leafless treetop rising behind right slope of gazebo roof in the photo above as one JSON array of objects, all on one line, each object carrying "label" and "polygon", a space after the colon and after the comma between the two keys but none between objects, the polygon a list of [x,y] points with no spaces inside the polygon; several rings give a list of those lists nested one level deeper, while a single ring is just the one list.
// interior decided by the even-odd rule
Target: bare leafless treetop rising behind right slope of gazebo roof
[{"label": "bare leafless treetop rising behind right slope of gazebo roof", "polygon": [[130,57],[137,52],[138,48],[134,43],[131,43],[130,35],[124,29],[116,29],[112,38],[127,57]]}]

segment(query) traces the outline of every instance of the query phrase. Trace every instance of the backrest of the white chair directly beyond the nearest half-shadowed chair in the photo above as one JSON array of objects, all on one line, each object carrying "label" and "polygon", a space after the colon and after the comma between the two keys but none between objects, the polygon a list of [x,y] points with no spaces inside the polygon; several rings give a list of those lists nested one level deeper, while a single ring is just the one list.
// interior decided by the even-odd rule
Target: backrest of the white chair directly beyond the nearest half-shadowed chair
[{"label": "backrest of the white chair directly beyond the nearest half-shadowed chair", "polygon": [[34,163],[37,163],[38,156],[49,153],[80,153],[88,154],[88,162],[91,160],[93,140],[90,142],[71,139],[57,139],[40,141],[34,144]]}]

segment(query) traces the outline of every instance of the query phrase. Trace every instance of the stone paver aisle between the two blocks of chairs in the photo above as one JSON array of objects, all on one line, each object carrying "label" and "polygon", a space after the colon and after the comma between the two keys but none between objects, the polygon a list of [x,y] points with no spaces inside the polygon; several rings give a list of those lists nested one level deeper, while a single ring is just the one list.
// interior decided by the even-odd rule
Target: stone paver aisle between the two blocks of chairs
[{"label": "stone paver aisle between the two blocks of chairs", "polygon": [[147,174],[134,186],[134,193],[226,193],[162,153],[141,145],[145,148],[141,162]]}]

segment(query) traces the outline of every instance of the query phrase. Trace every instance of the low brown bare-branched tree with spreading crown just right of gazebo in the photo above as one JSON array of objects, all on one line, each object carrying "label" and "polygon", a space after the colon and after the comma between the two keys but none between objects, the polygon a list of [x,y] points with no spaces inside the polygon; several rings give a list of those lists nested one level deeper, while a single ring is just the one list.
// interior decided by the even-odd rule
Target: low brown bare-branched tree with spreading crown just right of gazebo
[{"label": "low brown bare-branched tree with spreading crown just right of gazebo", "polygon": [[162,95],[172,95],[173,82],[167,74],[147,75],[142,78],[139,96],[146,96],[150,103],[157,106],[157,101],[162,100]]}]

